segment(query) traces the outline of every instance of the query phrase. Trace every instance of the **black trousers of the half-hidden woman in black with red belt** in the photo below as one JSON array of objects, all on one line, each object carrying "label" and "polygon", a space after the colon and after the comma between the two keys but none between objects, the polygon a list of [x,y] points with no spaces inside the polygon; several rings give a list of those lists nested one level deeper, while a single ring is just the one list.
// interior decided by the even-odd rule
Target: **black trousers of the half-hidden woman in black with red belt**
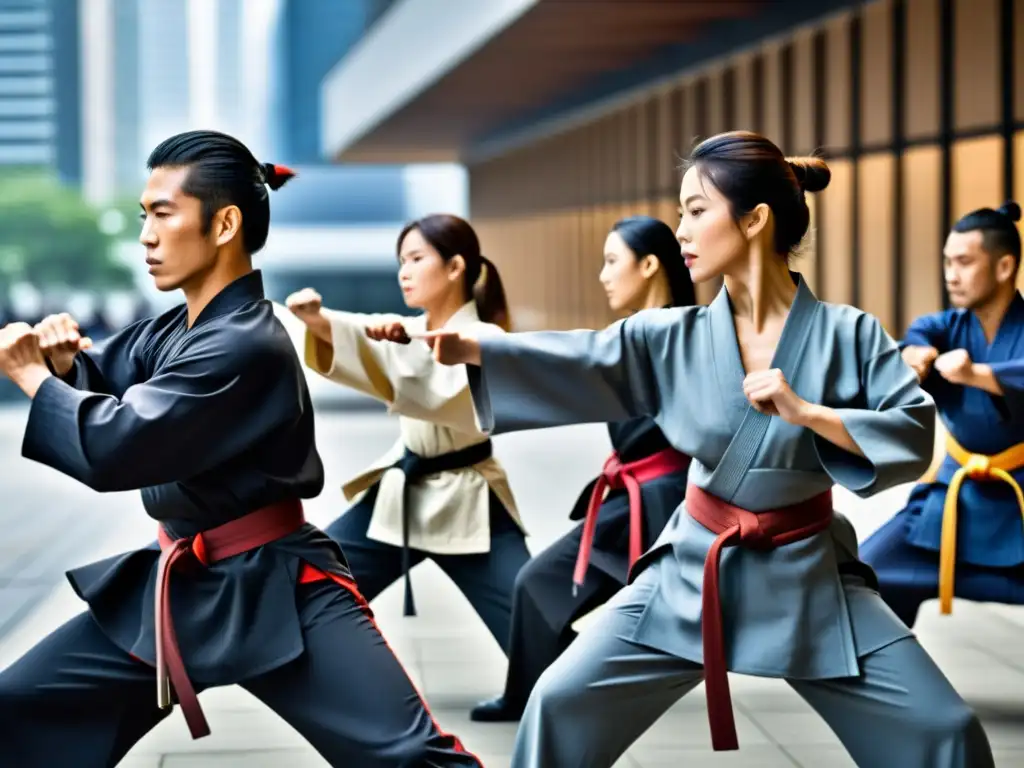
[{"label": "black trousers of the half-hidden woman in black with red belt", "polygon": [[541,675],[575,639],[572,623],[623,588],[621,581],[591,565],[573,597],[572,570],[582,536],[580,523],[538,554],[516,578],[504,694],[509,709],[521,712],[526,707]]}]

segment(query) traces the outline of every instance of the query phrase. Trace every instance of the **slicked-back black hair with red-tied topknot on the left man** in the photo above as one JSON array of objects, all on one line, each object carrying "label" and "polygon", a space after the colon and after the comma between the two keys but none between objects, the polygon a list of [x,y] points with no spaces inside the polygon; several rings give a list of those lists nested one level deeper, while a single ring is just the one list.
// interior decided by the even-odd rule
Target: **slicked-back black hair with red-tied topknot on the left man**
[{"label": "slicked-back black hair with red-tied topknot on the left man", "polygon": [[242,247],[250,255],[263,248],[270,228],[266,187],[278,189],[295,175],[284,166],[260,163],[237,138],[217,131],[187,131],[165,139],[150,154],[146,167],[188,169],[181,190],[202,203],[204,233],[217,211],[238,206]]}]

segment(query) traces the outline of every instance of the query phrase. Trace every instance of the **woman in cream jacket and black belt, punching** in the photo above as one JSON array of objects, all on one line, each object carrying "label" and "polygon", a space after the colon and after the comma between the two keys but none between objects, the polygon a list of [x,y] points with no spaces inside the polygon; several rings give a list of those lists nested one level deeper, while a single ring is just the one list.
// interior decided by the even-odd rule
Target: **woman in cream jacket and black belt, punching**
[{"label": "woman in cream jacket and black belt, punching", "polygon": [[423,310],[418,316],[327,309],[311,289],[287,300],[307,327],[306,365],[398,415],[397,441],[345,483],[355,503],[326,530],[368,600],[404,577],[406,615],[416,613],[410,570],[432,559],[507,651],[512,588],[529,560],[508,477],[476,428],[465,371],[438,365],[423,342],[385,341],[436,328],[504,333],[505,292],[458,216],[411,222],[396,251],[398,283],[406,303]]}]

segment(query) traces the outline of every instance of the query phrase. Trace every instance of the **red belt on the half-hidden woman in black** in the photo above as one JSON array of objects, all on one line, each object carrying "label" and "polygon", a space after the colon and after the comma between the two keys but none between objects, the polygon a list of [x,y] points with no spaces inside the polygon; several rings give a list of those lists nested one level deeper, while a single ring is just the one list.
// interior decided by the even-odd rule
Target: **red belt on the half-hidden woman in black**
[{"label": "red belt on the half-hidden woman in black", "polygon": [[675,449],[665,449],[656,454],[629,464],[623,464],[617,454],[612,454],[604,463],[601,475],[594,484],[594,493],[590,497],[587,516],[583,523],[583,536],[580,539],[580,554],[577,556],[575,571],[572,574],[572,589],[578,591],[583,586],[587,566],[590,564],[590,551],[594,546],[594,531],[597,528],[597,515],[604,501],[605,488],[626,488],[630,499],[630,567],[643,552],[643,503],[640,499],[640,485],[657,477],[673,472],[683,472],[690,464],[685,454]]}]

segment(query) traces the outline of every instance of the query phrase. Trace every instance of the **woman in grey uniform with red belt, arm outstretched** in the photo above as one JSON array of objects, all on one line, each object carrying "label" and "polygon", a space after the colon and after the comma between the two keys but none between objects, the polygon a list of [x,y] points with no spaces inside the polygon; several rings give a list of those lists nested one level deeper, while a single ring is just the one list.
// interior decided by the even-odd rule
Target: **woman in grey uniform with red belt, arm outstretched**
[{"label": "woman in grey uniform with red belt, arm outstretched", "polygon": [[[869,314],[818,301],[787,260],[816,159],[746,132],[690,157],[678,238],[708,307],[604,331],[426,335],[465,362],[481,426],[649,416],[692,457],[686,500],[630,586],[544,673],[515,768],[610,766],[705,680],[712,743],[737,748],[726,671],[785,678],[863,768],[991,768],[980,722],[872,588],[831,486],[920,477],[935,404]],[[586,393],[586,396],[583,396]]]}]

